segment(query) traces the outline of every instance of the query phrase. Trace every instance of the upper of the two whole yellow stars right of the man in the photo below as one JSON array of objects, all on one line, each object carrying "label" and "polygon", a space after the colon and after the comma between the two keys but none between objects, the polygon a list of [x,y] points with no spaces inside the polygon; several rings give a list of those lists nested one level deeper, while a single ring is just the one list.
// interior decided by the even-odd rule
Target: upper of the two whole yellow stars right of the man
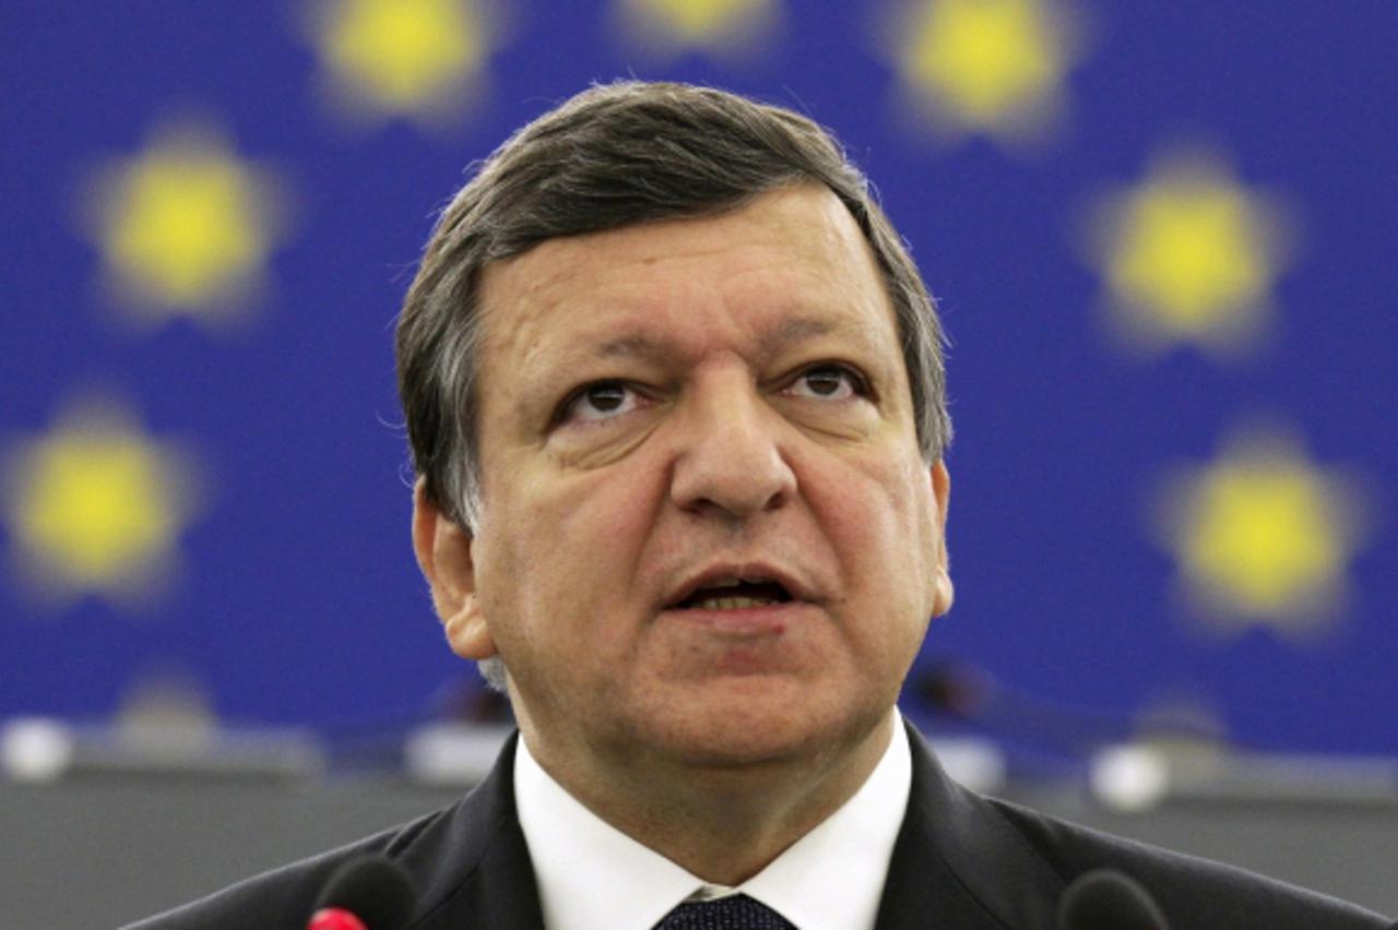
[{"label": "upper of the two whole yellow stars right of the man", "polygon": [[1089,250],[1128,342],[1227,350],[1262,328],[1282,265],[1285,216],[1220,159],[1173,155],[1100,198]]}]

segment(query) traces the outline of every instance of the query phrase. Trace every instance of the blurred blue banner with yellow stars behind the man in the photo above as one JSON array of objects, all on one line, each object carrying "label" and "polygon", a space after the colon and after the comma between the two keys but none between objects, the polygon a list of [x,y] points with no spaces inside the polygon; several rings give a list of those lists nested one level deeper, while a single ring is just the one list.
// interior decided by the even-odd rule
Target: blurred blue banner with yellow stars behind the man
[{"label": "blurred blue banner with yellow stars behind the man", "polygon": [[468,162],[635,75],[832,127],[941,302],[920,680],[1395,754],[1395,49],[1392,0],[6,3],[0,715],[473,680],[391,321]]}]

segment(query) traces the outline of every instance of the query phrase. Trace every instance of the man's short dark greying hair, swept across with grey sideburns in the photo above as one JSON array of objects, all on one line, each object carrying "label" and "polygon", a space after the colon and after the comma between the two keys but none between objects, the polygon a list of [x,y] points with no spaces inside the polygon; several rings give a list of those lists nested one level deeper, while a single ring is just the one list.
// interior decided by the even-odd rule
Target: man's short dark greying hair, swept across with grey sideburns
[{"label": "man's short dark greying hair, swept across with grey sideburns", "polygon": [[[398,317],[398,395],[426,499],[470,532],[480,519],[480,282],[492,261],[548,239],[712,216],[819,183],[850,211],[898,320],[917,440],[951,443],[942,331],[917,265],[840,144],[793,110],[713,88],[621,81],[516,131],[442,212]],[[502,684],[499,663],[482,673]],[[488,667],[489,666],[489,667]]]}]

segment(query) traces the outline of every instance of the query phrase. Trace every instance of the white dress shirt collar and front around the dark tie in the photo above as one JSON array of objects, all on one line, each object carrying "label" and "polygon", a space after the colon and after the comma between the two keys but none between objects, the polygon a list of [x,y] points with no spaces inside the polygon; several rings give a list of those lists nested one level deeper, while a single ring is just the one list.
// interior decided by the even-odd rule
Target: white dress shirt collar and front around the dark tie
[{"label": "white dress shirt collar and front around the dark tie", "polygon": [[573,799],[530,754],[514,755],[514,800],[548,930],[650,930],[686,901],[742,892],[800,930],[871,930],[913,782],[902,716],[864,785],[737,888],[692,876]]}]

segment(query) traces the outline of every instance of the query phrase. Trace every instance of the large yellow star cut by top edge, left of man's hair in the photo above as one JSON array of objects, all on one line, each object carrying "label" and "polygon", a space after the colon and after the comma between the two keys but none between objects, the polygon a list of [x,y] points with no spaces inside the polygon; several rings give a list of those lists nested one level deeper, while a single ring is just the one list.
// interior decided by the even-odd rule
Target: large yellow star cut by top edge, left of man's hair
[{"label": "large yellow star cut by top edge, left of man's hair", "polygon": [[475,0],[320,0],[309,29],[348,115],[440,123],[475,92],[492,22]]}]

